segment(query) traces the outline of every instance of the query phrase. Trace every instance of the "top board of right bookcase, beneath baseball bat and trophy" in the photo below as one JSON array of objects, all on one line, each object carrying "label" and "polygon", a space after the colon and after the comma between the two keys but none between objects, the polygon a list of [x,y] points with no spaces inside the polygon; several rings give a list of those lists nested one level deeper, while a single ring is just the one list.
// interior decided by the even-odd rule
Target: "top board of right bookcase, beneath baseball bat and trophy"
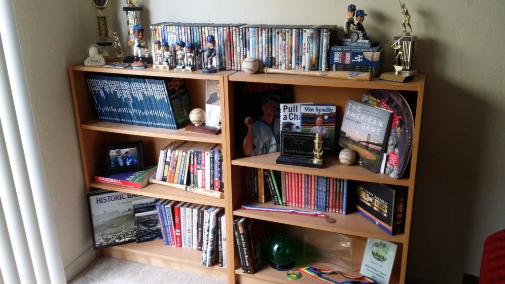
[{"label": "top board of right bookcase, beneath baseball bat and trophy", "polygon": [[306,86],[327,86],[342,88],[363,88],[363,89],[389,89],[389,90],[411,90],[418,91],[424,84],[425,75],[419,73],[414,80],[407,83],[395,83],[373,78],[371,81],[332,79],[325,77],[288,75],[288,74],[246,74],[245,72],[235,72],[228,77],[229,81],[241,82],[261,82]]}]

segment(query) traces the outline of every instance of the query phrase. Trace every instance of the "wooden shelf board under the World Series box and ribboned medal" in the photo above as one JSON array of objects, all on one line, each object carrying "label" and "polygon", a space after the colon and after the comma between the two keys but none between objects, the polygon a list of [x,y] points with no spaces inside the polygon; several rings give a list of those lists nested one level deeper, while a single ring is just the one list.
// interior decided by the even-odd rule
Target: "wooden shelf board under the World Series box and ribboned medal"
[{"label": "wooden shelf board under the World Series box and ribboned medal", "polygon": [[[261,207],[273,207],[282,209],[294,208],[299,210],[310,210],[290,206],[274,205],[272,202],[260,203],[260,202],[244,201],[243,203],[247,205],[261,206]],[[233,211],[233,215],[235,216],[260,219],[269,222],[288,224],[293,226],[336,232],[347,235],[361,236],[363,238],[381,239],[394,243],[405,242],[405,234],[390,235],[381,228],[379,228],[377,225],[375,225],[374,223],[363,217],[358,212],[352,212],[348,215],[329,213],[329,212],[324,212],[324,214],[334,218],[337,221],[333,224],[330,224],[326,222],[324,218],[313,216],[302,216],[298,214],[264,212],[264,211],[243,210],[243,209]]]}]

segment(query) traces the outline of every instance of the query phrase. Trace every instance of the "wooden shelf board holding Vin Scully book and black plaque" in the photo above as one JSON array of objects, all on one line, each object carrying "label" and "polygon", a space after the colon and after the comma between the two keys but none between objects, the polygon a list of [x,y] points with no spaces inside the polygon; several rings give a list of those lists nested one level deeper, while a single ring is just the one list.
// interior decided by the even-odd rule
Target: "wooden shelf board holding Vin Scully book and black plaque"
[{"label": "wooden shelf board holding Vin Scully book and black plaque", "polygon": [[384,184],[394,184],[409,186],[409,178],[394,179],[383,173],[373,173],[359,165],[346,166],[338,161],[337,157],[326,158],[324,168],[310,168],[300,166],[290,166],[277,164],[275,160],[279,157],[279,153],[270,153],[246,158],[238,158],[231,161],[232,165],[245,166],[253,168],[263,168],[278,171],[295,172],[302,174],[313,174],[336,178],[346,178],[352,180],[361,180],[369,182],[377,182]]}]

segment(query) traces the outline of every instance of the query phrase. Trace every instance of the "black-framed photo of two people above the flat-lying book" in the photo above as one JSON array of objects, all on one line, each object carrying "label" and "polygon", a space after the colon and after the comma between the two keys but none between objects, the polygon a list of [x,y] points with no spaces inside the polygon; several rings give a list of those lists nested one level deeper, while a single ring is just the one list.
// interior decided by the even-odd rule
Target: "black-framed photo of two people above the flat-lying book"
[{"label": "black-framed photo of two people above the flat-lying book", "polygon": [[103,146],[104,174],[143,170],[142,141]]}]

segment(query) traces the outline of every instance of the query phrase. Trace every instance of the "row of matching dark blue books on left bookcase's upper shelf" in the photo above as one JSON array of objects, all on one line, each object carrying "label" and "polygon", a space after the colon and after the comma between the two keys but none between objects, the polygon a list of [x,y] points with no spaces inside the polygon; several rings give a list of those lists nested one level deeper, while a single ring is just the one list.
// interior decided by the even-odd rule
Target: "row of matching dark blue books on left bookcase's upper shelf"
[{"label": "row of matching dark blue books on left bookcase's upper shelf", "polygon": [[189,122],[184,79],[150,79],[86,73],[100,121],[178,129]]}]

